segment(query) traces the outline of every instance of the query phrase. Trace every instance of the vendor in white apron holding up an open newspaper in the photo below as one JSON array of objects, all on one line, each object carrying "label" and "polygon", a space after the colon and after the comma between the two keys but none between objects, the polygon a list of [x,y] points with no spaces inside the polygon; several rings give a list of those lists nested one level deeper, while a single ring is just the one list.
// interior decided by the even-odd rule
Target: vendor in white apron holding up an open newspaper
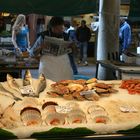
[{"label": "vendor in white apron holding up an open newspaper", "polygon": [[40,55],[39,73],[43,73],[46,78],[53,81],[73,79],[67,51],[59,54],[59,45],[45,41],[45,37],[64,40],[63,18],[52,17],[48,27],[49,29],[47,31],[40,33],[40,36],[30,49],[30,56]]}]

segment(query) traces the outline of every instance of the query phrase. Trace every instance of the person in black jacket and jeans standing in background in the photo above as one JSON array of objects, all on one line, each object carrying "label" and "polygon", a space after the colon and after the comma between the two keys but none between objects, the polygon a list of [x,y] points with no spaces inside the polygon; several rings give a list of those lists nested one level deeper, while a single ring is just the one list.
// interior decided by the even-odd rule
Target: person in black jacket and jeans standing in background
[{"label": "person in black jacket and jeans standing in background", "polygon": [[87,49],[88,49],[88,41],[91,38],[91,32],[90,29],[86,26],[86,21],[81,21],[81,26],[77,28],[76,30],[76,37],[79,42],[79,48],[80,48],[80,59],[79,64],[83,62],[84,66],[88,65],[87,62]]}]

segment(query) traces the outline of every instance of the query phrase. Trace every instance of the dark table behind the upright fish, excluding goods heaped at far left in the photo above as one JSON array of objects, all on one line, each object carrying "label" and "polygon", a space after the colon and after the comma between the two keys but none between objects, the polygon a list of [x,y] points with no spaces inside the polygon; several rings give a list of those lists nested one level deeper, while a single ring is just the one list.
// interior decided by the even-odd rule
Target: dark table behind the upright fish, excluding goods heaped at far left
[{"label": "dark table behind the upright fish, excluding goods heaped at far left", "polygon": [[[10,73],[15,78],[22,77],[22,70],[38,69],[38,58],[3,58],[0,61],[1,81],[5,81],[5,74]],[[3,78],[2,78],[3,77]]]}]

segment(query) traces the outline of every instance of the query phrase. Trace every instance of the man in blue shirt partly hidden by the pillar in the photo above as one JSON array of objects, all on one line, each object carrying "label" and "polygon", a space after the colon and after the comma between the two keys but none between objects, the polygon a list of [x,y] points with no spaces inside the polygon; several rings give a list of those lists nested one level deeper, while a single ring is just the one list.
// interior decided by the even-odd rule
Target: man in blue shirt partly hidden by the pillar
[{"label": "man in blue shirt partly hidden by the pillar", "polygon": [[131,44],[131,27],[124,18],[120,18],[120,54],[126,53]]}]

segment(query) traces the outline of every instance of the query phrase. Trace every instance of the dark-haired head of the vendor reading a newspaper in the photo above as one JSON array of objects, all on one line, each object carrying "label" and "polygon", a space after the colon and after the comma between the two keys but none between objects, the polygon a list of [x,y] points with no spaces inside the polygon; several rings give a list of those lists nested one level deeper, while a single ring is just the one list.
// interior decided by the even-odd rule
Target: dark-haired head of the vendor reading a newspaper
[{"label": "dark-haired head of the vendor reading a newspaper", "polygon": [[61,17],[52,17],[49,22],[51,31],[55,34],[62,34],[64,31],[64,20]]}]

